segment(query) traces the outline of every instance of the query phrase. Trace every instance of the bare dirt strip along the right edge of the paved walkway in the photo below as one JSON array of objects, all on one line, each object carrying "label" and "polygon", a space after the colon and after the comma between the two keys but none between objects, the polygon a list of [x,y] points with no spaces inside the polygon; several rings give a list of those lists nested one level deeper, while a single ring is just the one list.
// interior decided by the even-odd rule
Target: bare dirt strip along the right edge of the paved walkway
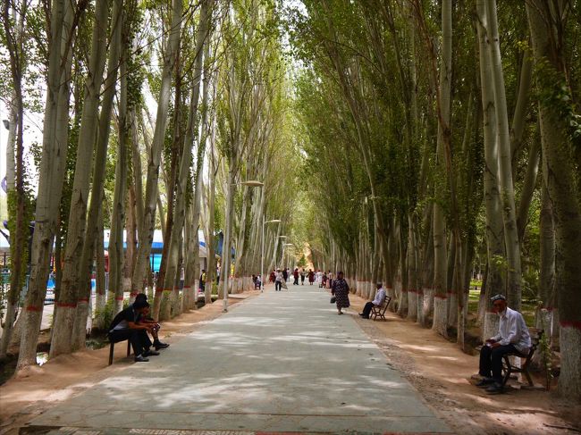
[{"label": "bare dirt strip along the right edge of the paved walkway", "polygon": [[[349,298],[352,311],[360,313],[366,301]],[[356,317],[395,368],[459,434],[581,432],[581,405],[539,389],[490,396],[470,382],[478,372],[478,356],[464,354],[455,343],[397,314],[386,313],[387,322]]]}]

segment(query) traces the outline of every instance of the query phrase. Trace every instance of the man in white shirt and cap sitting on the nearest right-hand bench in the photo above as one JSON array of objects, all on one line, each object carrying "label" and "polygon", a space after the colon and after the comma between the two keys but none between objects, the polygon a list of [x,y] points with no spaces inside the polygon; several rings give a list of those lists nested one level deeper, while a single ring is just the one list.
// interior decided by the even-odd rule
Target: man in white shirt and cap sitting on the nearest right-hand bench
[{"label": "man in white shirt and cap sitting on the nearest right-hand bench", "polygon": [[507,306],[506,297],[496,295],[491,300],[501,322],[498,334],[487,339],[480,349],[479,373],[483,379],[476,386],[486,388],[487,393],[498,394],[502,392],[502,356],[515,352],[528,354],[531,338],[522,314]]}]

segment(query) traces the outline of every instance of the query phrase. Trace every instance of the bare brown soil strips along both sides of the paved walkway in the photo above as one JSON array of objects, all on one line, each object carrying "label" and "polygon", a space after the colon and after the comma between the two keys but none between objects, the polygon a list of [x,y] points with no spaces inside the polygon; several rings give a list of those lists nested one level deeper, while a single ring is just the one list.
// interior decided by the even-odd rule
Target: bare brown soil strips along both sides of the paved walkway
[{"label": "bare brown soil strips along both sides of the paved walkway", "polygon": [[[257,294],[249,292],[244,297]],[[353,295],[350,300],[349,311],[360,312],[365,301]],[[238,303],[240,299],[230,301]],[[164,322],[162,336],[173,343],[221,312],[222,303],[218,302],[182,314]],[[358,319],[358,324],[459,434],[581,432],[580,405],[540,389],[511,389],[503,395],[488,396],[470,383],[477,356],[467,356],[454,343],[397,314],[386,317],[386,322]],[[18,433],[18,428],[36,415],[133,364],[124,357],[123,346],[115,350],[111,366],[107,366],[108,347],[85,350],[31,367],[0,386],[0,435]]]}]

